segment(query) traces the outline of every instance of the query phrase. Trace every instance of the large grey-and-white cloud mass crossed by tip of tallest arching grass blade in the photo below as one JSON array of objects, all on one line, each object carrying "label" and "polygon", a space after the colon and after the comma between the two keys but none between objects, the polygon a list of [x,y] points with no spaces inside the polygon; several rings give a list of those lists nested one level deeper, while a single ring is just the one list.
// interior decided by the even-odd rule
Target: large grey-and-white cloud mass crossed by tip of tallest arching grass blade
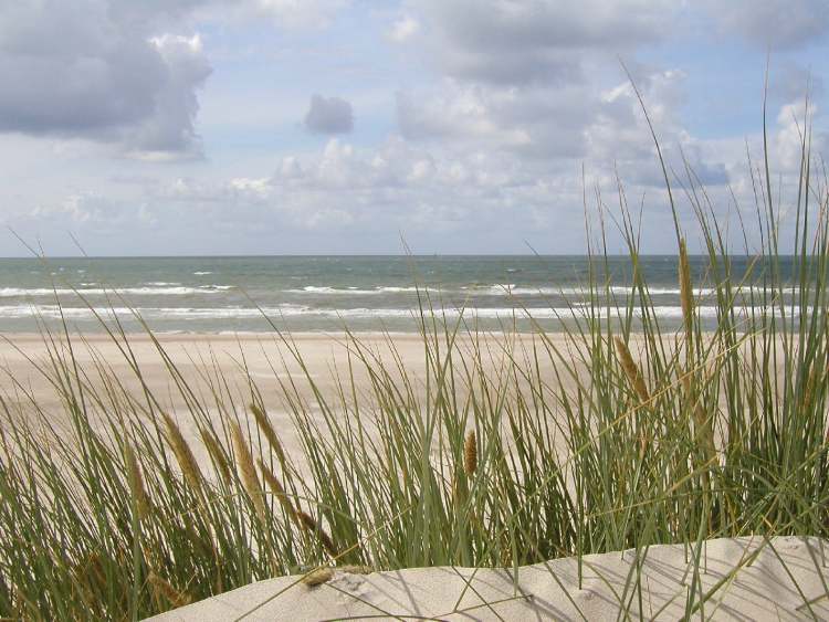
[{"label": "large grey-and-white cloud mass crossed by tip of tallest arching grass blade", "polygon": [[650,131],[619,66],[625,53],[669,166],[682,172],[688,164],[707,183],[724,185],[726,167],[680,118],[685,74],[634,60],[680,8],[673,0],[412,2],[423,24],[414,38],[443,80],[398,93],[400,133],[450,152],[493,151],[527,170],[560,167],[577,177],[585,164],[610,188],[617,172],[641,189],[660,188]]}]

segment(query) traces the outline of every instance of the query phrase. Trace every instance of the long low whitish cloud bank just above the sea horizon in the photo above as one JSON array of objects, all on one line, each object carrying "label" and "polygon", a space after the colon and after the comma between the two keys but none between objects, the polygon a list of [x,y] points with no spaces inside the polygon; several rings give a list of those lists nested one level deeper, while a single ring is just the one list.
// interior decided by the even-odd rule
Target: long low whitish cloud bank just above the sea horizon
[{"label": "long low whitish cloud bank just above the sea horizon", "polygon": [[[640,86],[652,102],[660,93],[670,99],[681,82],[681,74],[663,72]],[[377,147],[356,147],[332,138],[318,150],[285,155],[267,176],[126,179],[111,191],[80,189],[42,201],[7,224],[35,236],[41,234],[36,223],[49,222],[50,231],[73,231],[92,253],[396,252],[399,234],[416,251],[526,252],[526,241],[541,252],[578,253],[584,251],[585,190],[590,205],[599,192],[615,209],[618,175],[634,212],[642,202],[648,251],[671,252],[672,239],[659,235],[672,229],[664,181],[638,102],[626,83],[608,88],[604,101],[585,128],[579,159],[516,157],[470,141],[452,149],[392,136]],[[663,155],[672,178],[675,172],[684,188],[691,187],[686,162],[693,185],[706,185],[705,194],[723,218],[732,205],[730,188],[751,210],[744,139],[696,139],[674,125],[670,110],[658,108],[654,115],[662,115],[665,129],[660,136],[670,136]],[[801,116],[795,104],[772,116],[773,166],[784,175],[784,188],[796,188],[800,147],[794,119],[802,126]],[[825,134],[816,140],[826,148]],[[748,146],[759,154],[762,138],[749,136]],[[689,198],[679,185],[674,189],[680,218],[690,229]],[[746,222],[751,226],[753,220]],[[180,231],[193,242],[182,242]],[[731,233],[742,235],[736,223]],[[622,250],[609,234],[611,250]]]}]

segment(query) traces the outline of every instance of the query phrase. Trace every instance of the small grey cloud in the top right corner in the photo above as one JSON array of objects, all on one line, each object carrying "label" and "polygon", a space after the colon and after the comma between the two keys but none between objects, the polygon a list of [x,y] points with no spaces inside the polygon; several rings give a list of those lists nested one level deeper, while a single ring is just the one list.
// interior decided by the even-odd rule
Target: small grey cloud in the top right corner
[{"label": "small grey cloud in the top right corner", "polygon": [[826,0],[705,0],[723,36],[735,33],[760,50],[794,50],[829,35]]}]

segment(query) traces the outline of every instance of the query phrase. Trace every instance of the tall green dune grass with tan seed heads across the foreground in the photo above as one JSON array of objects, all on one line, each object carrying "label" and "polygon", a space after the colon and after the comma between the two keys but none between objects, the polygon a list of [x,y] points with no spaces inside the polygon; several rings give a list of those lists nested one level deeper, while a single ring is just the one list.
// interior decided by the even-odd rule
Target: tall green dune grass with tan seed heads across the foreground
[{"label": "tall green dune grass with tan seed heads across the foreground", "polygon": [[[130,382],[106,360],[82,366],[83,336],[43,324],[49,357],[32,363],[61,417],[22,380],[0,397],[0,616],[138,619],[264,578],[313,581],[321,567],[517,568],[655,544],[686,544],[699,572],[709,538],[829,536],[827,185],[805,133],[781,226],[768,162],[752,168],[755,203],[734,209],[762,233],[739,249],[693,171],[680,183],[665,170],[678,329],[654,313],[621,189],[612,219],[634,294],[613,289],[604,224],[588,231],[590,277],[563,339],[541,327],[515,339],[506,326],[486,340],[423,291],[424,371],[347,333],[332,393],[274,321],[285,365],[306,372],[276,365],[266,380],[298,437],[293,454],[261,378],[246,376],[240,403],[208,361],[199,373],[210,390],[197,390],[155,340],[187,404],[167,412],[117,319],[101,326]],[[689,207],[685,232],[676,212]],[[703,242],[704,273],[689,267],[686,236]],[[749,267],[735,272],[744,254]],[[700,315],[702,288],[714,323]],[[686,612],[710,595],[689,590]]]}]

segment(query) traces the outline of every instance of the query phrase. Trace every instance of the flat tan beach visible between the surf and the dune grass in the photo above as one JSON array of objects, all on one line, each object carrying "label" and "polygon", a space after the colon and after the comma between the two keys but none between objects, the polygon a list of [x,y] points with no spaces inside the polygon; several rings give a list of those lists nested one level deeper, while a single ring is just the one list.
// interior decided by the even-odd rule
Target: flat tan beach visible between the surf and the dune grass
[{"label": "flat tan beach visible between the surf and the dune grass", "polygon": [[[200,405],[207,409],[207,414],[214,423],[223,417],[221,408],[213,397],[213,392],[221,390],[224,412],[234,412],[239,417],[246,417],[246,405],[251,402],[250,377],[261,392],[269,418],[280,434],[281,442],[287,454],[297,461],[296,466],[304,468],[303,450],[290,417],[290,410],[284,400],[284,389],[280,381],[294,382],[304,400],[305,408],[313,415],[319,412],[316,397],[312,391],[308,378],[316,388],[329,400],[337,410],[338,394],[337,377],[344,382],[346,391],[350,389],[350,373],[354,384],[363,396],[360,407],[370,410],[368,404],[371,397],[367,396],[369,388],[365,365],[359,362],[354,354],[354,345],[349,344],[343,334],[295,334],[291,336],[292,347],[298,351],[301,365],[294,358],[290,348],[274,334],[242,334],[242,335],[158,335],[160,347],[169,361],[186,379],[197,396]],[[410,378],[422,378],[426,369],[426,351],[423,339],[419,335],[396,334],[361,334],[358,336],[361,347],[371,356],[379,357],[385,366],[396,368],[400,365]],[[532,347],[533,336],[482,336],[478,342],[485,355],[483,357],[485,372],[495,375],[500,365],[505,360],[505,348],[512,340],[514,350]],[[535,337],[537,340],[538,338]],[[558,346],[564,345],[560,336],[550,338]],[[65,348],[66,346],[59,346]],[[123,345],[122,345],[123,347]],[[469,351],[469,337],[458,340],[455,350],[460,354]],[[147,335],[129,337],[129,356],[140,368],[139,381],[130,362],[116,342],[105,335],[87,335],[73,338],[72,348],[74,359],[84,371],[87,381],[101,390],[104,382],[97,377],[95,362],[99,361],[112,370],[114,377],[140,401],[141,382],[161,402],[161,408],[171,412],[178,421],[183,436],[193,450],[197,461],[209,464],[207,450],[199,436],[198,428],[183,394],[177,389],[167,362],[159,354],[159,348]],[[445,348],[445,344],[440,344]],[[10,402],[20,402],[22,411],[31,410],[31,402],[36,402],[53,424],[66,422],[66,409],[55,389],[38,371],[36,366],[49,366],[49,348],[40,335],[11,335],[8,341],[0,341],[0,396]],[[460,366],[459,366],[460,367]],[[554,379],[553,365],[541,360],[541,368],[545,377],[552,382]],[[307,376],[306,376],[307,375]],[[227,384],[225,384],[227,382]],[[416,384],[418,399],[423,399],[426,388]],[[459,391],[463,392],[459,386]],[[422,402],[421,402],[422,403]],[[322,415],[319,415],[322,419]],[[92,418],[95,425],[95,418]],[[369,431],[370,433],[370,431]]]}]

